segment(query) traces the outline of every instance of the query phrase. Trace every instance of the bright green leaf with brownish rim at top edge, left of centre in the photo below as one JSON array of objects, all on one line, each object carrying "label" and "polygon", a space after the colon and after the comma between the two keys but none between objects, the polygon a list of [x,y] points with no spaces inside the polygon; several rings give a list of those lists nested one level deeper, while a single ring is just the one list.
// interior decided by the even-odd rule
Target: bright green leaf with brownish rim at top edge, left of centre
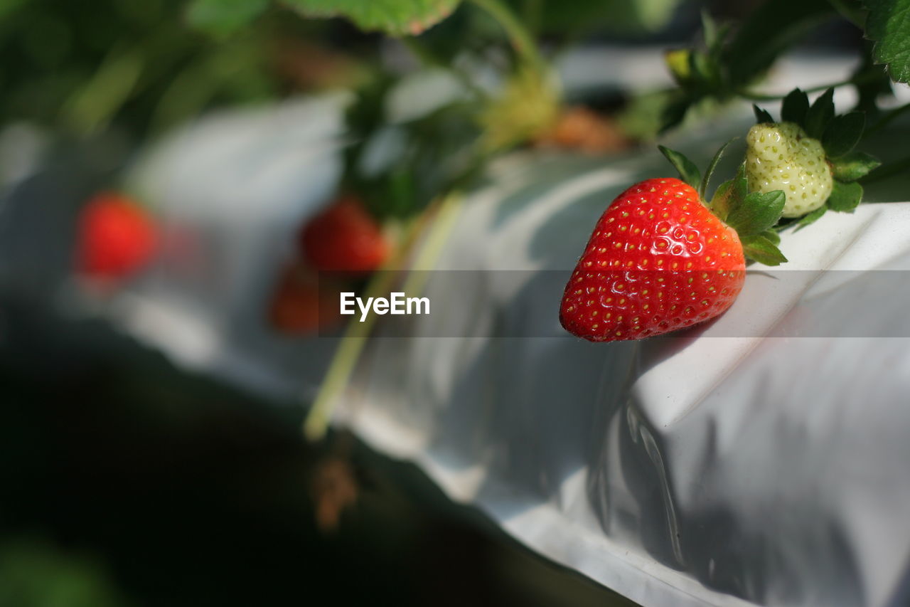
[{"label": "bright green leaf with brownish rim at top edge, left of centre", "polygon": [[364,30],[417,36],[449,16],[460,0],[283,0],[301,15],[347,17]]}]

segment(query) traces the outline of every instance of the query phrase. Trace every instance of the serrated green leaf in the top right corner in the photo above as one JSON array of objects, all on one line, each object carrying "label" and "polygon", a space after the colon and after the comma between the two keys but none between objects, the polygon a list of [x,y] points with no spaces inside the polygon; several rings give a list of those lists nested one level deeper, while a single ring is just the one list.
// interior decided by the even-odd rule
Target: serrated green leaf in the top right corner
[{"label": "serrated green leaf in the top right corner", "polygon": [[864,0],[865,36],[875,40],[872,57],[895,82],[910,80],[910,0]]}]

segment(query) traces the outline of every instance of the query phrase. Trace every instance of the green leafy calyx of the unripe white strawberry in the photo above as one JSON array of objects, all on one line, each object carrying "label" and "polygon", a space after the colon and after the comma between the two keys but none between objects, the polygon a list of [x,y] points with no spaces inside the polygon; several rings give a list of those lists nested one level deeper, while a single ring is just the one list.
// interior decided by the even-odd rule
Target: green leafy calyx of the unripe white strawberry
[{"label": "green leafy calyx of the unripe white strawberry", "polygon": [[[753,106],[759,123],[773,122],[771,115]],[[794,88],[784,98],[781,121],[799,125],[809,137],[818,139],[824,148],[825,159],[831,168],[834,187],[824,205],[794,220],[783,221],[775,229],[794,227],[801,230],[817,221],[825,211],[853,212],[863,200],[863,187],[856,180],[881,165],[878,159],[854,148],[863,137],[865,114],[849,112],[837,115],[834,111],[834,89],[829,88],[813,104],[803,90]]]}]

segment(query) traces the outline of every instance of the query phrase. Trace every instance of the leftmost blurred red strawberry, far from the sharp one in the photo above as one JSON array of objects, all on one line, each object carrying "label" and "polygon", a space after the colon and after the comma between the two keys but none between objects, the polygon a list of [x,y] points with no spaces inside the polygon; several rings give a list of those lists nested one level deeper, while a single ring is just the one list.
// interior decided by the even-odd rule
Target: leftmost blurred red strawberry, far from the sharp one
[{"label": "leftmost blurred red strawberry, far from the sharp one", "polygon": [[154,221],[126,195],[98,193],[79,214],[76,264],[87,277],[126,278],[149,261],[156,246]]}]

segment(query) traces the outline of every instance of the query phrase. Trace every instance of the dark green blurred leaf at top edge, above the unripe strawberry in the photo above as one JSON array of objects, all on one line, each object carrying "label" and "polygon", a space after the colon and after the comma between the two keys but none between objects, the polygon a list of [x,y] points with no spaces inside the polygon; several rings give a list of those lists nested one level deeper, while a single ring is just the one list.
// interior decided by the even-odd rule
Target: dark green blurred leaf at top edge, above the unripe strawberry
[{"label": "dark green blurred leaf at top edge, above the unripe strawberry", "polygon": [[788,47],[837,13],[827,0],[766,0],[743,22],[724,51],[723,64],[734,87],[760,76]]}]

